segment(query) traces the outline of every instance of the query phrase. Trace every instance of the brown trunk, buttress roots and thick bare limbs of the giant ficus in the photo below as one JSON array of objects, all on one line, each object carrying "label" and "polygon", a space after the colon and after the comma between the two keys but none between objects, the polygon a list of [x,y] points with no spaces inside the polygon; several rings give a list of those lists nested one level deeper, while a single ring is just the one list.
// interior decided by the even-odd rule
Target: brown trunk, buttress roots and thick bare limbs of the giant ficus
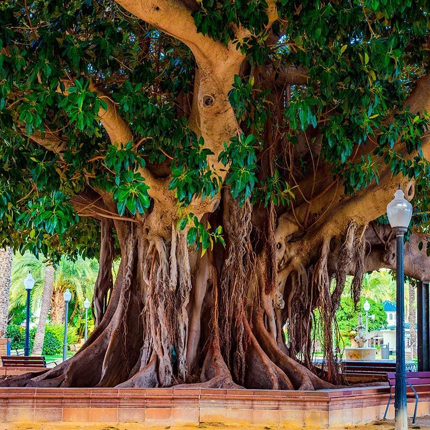
[{"label": "brown trunk, buttress roots and thick bare limbs of the giant ficus", "polygon": [[[235,75],[240,74],[244,54],[234,44],[225,46],[197,33],[186,2],[162,2],[161,7],[146,0],[118,3],[174,35],[193,52],[198,68],[187,119],[210,152],[207,165],[224,183],[229,168],[221,163],[220,153],[225,142],[241,134],[228,94]],[[272,9],[276,19],[274,2]],[[246,37],[239,33],[242,35]],[[430,100],[423,96],[428,93],[429,81],[427,76],[418,82],[408,101],[411,112],[430,110]],[[99,93],[95,87],[90,90]],[[279,98],[281,112],[286,99],[284,95]],[[110,98],[105,100],[100,121],[110,142],[119,148],[134,136]],[[267,142],[262,142],[267,151],[261,152],[259,161],[262,176],[273,170],[273,151],[287,152],[276,145],[269,131]],[[318,139],[321,136],[313,144],[315,152]],[[429,155],[429,142],[428,137],[423,139],[424,157]],[[369,146],[359,149],[371,153],[373,147]],[[392,149],[406,154],[400,141]],[[385,166],[383,159],[374,161]],[[73,198],[72,203],[82,210],[96,201],[100,207],[103,201],[109,209],[106,213],[113,214],[111,225],[104,222],[101,229],[94,300],[100,320],[85,345],[69,360],[44,374],[8,378],[0,385],[145,388],[195,383],[217,388],[313,390],[340,382],[338,357],[332,349],[332,321],[348,274],[354,275],[352,293],[357,302],[369,267],[393,264],[392,236],[383,231],[373,234],[368,225],[385,213],[398,178],[385,168],[377,186],[372,183],[350,196],[343,193],[338,179],[333,182],[323,158],[320,163],[322,167],[314,170],[314,175],[297,183],[294,210],[284,207],[276,213],[272,203],[253,206],[249,200],[239,206],[228,186],[212,198],[195,198],[185,209],[181,206],[182,213],[193,213],[204,227],[208,227],[205,220],[210,219],[211,228],[224,229],[226,247],[217,243],[204,255],[194,246],[188,247],[188,227],[184,231],[177,228],[178,201],[168,189],[170,178],[157,177],[150,168],[139,170],[150,187],[151,205],[145,214],[121,220],[115,202],[103,192],[94,201],[85,198],[79,203],[78,196]],[[305,174],[302,167],[297,169]],[[401,183],[405,186],[406,180]],[[407,184],[406,192],[412,197],[412,184]],[[91,216],[107,217],[105,212],[100,217],[97,213]],[[109,236],[113,228],[121,265],[111,289]],[[415,250],[406,246],[405,252],[405,273],[428,279],[425,265],[409,263],[408,252],[415,255]],[[111,293],[106,293],[110,289]],[[63,307],[64,300],[57,291],[53,320],[61,320]],[[314,367],[310,354],[316,309],[322,323],[324,370]]]}]

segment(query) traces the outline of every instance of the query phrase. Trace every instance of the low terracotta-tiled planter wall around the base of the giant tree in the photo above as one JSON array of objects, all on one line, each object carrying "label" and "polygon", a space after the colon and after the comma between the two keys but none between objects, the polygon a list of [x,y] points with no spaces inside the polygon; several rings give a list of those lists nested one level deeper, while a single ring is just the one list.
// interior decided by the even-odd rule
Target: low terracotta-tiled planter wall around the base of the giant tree
[{"label": "low terracotta-tiled planter wall around the base of the giant tree", "polygon": [[[381,419],[388,386],[318,391],[199,388],[0,388],[0,421],[204,423],[327,428]],[[430,387],[418,415],[430,414]],[[408,409],[413,412],[413,399]],[[394,416],[394,407],[389,417]]]}]

